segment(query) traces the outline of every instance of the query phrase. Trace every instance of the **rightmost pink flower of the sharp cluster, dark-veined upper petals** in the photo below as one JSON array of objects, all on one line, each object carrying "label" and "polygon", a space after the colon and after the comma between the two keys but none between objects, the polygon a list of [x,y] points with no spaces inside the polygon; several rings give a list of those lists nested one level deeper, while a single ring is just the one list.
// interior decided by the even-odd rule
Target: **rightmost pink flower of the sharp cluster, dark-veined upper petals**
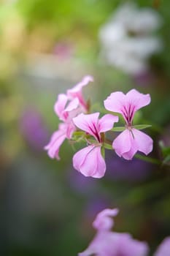
[{"label": "rightmost pink flower of the sharp cluster, dark-veined upper petals", "polygon": [[133,127],[133,118],[136,110],[150,104],[150,94],[141,94],[132,89],[127,94],[121,91],[114,92],[104,100],[107,110],[122,114],[125,119],[125,130],[112,143],[116,154],[130,160],[137,151],[149,154],[152,151],[152,139],[144,132]]}]

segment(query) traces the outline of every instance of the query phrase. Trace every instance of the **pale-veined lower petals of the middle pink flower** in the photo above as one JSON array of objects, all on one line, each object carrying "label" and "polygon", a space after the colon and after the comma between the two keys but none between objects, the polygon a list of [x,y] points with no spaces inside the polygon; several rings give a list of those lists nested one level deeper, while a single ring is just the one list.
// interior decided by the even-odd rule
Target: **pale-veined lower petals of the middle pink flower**
[{"label": "pale-veined lower petals of the middle pink flower", "polygon": [[74,154],[73,166],[84,176],[103,177],[106,171],[106,164],[101,156],[101,147],[90,145],[82,148]]}]

